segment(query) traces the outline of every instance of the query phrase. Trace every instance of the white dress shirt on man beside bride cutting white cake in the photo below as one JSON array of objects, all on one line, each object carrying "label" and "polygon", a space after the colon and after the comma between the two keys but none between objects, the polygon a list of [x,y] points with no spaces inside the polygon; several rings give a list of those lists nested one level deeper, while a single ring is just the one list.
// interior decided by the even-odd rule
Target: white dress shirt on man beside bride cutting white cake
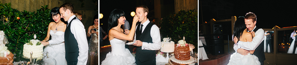
[{"label": "white dress shirt on man beside bride cutting white cake", "polygon": [[[74,17],[76,16],[72,15],[67,22],[69,23]],[[70,30],[78,43],[79,53],[77,58],[78,59],[77,65],[86,65],[88,61],[89,46],[86,38],[87,36],[85,32],[86,31],[85,27],[83,26],[83,23],[81,23],[80,20],[74,19],[71,23]]]}]

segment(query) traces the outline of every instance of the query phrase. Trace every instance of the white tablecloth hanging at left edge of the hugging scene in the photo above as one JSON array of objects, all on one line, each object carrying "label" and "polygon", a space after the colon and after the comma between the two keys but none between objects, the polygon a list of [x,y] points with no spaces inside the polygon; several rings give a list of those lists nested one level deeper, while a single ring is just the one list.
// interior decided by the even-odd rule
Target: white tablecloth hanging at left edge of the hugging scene
[{"label": "white tablecloth hanging at left edge of the hugging scene", "polygon": [[[203,46],[201,40],[199,40],[199,46]],[[206,59],[208,59],[204,47],[200,47],[200,48],[199,48],[199,50],[198,50],[198,55],[199,55],[199,56],[198,56],[199,59],[202,59],[202,60],[206,60]]]}]

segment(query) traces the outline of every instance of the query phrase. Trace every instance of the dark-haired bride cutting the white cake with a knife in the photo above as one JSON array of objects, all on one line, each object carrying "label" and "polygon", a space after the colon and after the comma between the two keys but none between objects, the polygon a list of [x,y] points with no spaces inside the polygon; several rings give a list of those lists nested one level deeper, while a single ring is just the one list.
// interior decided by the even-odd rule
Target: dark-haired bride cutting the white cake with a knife
[{"label": "dark-haired bride cutting the white cake with a knife", "polygon": [[[64,32],[66,24],[61,21],[61,14],[59,7],[55,7],[50,11],[52,19],[55,22],[48,24],[48,33],[44,40],[40,41],[45,46],[43,52],[48,52],[48,56],[53,57],[56,60],[56,65],[67,65],[65,59],[65,44],[64,44]],[[51,37],[51,40],[49,38]]]}]

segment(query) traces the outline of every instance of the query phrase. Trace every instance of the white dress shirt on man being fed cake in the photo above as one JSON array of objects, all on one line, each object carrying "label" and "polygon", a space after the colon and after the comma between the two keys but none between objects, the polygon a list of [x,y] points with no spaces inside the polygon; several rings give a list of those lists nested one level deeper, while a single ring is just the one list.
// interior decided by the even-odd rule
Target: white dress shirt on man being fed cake
[{"label": "white dress shirt on man being fed cake", "polygon": [[[140,25],[142,24],[142,32],[144,31],[144,29],[146,28],[146,26],[149,24],[149,19],[144,22],[143,24],[140,23]],[[138,26],[138,25],[137,25]],[[136,26],[136,27],[137,27]],[[136,31],[136,29],[135,29]],[[140,31],[140,30],[139,30]],[[141,32],[141,33],[142,33]],[[161,37],[160,37],[160,31],[157,25],[153,25],[151,27],[151,38],[153,43],[147,43],[147,42],[142,42],[142,47],[141,49],[145,49],[145,50],[159,50],[161,48]],[[136,33],[134,34],[134,42],[136,41]]]}]

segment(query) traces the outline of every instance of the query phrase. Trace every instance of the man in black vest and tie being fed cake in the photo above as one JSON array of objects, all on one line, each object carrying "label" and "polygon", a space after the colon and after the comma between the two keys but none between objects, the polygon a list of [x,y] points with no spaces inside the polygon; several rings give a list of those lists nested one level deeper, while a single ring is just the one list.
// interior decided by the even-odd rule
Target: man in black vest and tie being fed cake
[{"label": "man in black vest and tie being fed cake", "polygon": [[135,60],[137,65],[156,65],[156,52],[161,48],[160,31],[157,25],[147,19],[148,7],[136,6],[136,15],[139,22],[136,27],[133,45],[136,47]]}]

